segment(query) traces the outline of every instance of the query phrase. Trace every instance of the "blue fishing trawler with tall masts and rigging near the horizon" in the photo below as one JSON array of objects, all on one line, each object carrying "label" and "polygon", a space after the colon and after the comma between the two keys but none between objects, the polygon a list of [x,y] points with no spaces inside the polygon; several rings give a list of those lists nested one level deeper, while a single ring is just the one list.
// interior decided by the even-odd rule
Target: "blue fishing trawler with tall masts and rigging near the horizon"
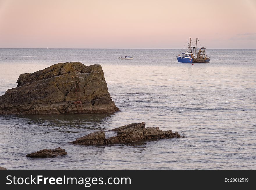
[{"label": "blue fishing trawler with tall masts and rigging near the horizon", "polygon": [[[189,38],[189,48],[182,55],[178,55],[177,60],[179,63],[207,63],[210,58],[205,54],[205,47],[198,47],[199,39],[196,38],[195,45],[191,46],[191,38]],[[199,43],[200,44],[200,43]],[[193,48],[193,51],[192,51]],[[196,56],[195,56],[196,55]]]}]

